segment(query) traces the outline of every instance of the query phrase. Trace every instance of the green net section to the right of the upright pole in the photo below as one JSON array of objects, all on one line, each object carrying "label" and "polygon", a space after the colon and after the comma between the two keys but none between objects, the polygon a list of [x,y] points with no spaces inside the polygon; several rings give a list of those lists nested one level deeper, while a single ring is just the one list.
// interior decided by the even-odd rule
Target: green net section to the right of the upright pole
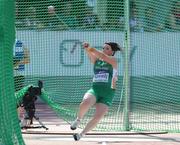
[{"label": "green net section to the right of the upright pole", "polygon": [[131,5],[132,129],[179,130],[179,10],[178,1]]}]

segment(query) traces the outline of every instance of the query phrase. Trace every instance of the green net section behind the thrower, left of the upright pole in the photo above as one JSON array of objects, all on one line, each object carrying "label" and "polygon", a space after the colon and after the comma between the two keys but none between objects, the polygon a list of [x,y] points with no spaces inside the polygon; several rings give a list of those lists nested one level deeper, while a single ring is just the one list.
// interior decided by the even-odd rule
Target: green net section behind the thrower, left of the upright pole
[{"label": "green net section behind the thrower, left of the upright pole", "polygon": [[[123,1],[117,1],[116,5],[120,7],[113,10],[115,4],[111,1],[94,4],[88,1],[17,1],[16,39],[22,42],[22,48],[27,48],[30,55],[30,63],[15,72],[15,77],[21,80],[17,81],[17,90],[43,80],[47,94],[42,100],[48,103],[49,98],[48,104],[61,118],[73,121],[84,93],[92,85],[93,66],[82,49],[82,42],[87,40],[98,49],[105,41],[123,42],[120,38],[124,34],[116,31],[123,31],[124,22],[118,26],[118,15],[124,15]],[[100,41],[96,41],[96,35]],[[119,105],[123,95],[123,59],[121,54],[117,58],[121,75],[114,104],[96,130],[106,130],[107,123],[112,124],[111,130],[122,130],[122,125],[116,124],[123,122],[122,106]],[[57,104],[62,108],[57,108]],[[114,110],[119,110],[119,113]],[[93,112],[94,108],[83,119],[81,127]]]}]

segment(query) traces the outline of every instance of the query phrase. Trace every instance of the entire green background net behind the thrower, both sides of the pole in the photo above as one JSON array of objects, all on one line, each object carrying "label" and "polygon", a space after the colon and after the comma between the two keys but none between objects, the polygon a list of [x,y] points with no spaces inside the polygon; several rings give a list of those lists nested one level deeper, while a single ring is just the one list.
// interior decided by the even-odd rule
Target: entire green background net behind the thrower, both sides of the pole
[{"label": "entire green background net behind the thrower, both sides of the pole", "polygon": [[[14,63],[13,67],[16,99],[23,97],[26,91],[26,88],[21,90],[23,87],[43,80],[45,91],[41,99],[61,118],[71,122],[84,93],[91,87],[93,76],[93,66],[82,49],[82,42],[88,41],[101,49],[104,42],[115,41],[121,46],[125,44],[124,50],[130,48],[130,51],[115,56],[119,67],[118,87],[109,113],[95,130],[122,131],[128,114],[126,125],[130,130],[178,132],[180,3],[178,0],[131,0],[127,13],[126,2],[17,0],[13,54],[17,59],[14,61],[20,63]],[[126,43],[127,38],[130,44]],[[6,45],[1,43],[2,48]],[[4,59],[6,52],[1,54],[0,59]],[[7,55],[11,58],[10,52]],[[128,70],[124,63],[127,58]],[[5,70],[4,66],[11,65],[1,66]],[[127,71],[128,81],[124,77]],[[10,84],[1,77],[5,84]],[[130,89],[129,96],[126,89]],[[0,107],[5,106],[1,103]],[[93,108],[88,112],[81,127],[94,111]],[[9,116],[16,118],[13,114]],[[1,140],[3,135],[0,132]]]}]

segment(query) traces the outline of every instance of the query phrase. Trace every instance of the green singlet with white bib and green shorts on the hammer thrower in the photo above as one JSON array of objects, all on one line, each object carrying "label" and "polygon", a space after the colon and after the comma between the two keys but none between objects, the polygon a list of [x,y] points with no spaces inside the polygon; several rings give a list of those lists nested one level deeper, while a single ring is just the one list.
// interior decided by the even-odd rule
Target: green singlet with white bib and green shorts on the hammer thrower
[{"label": "green singlet with white bib and green shorts on the hammer thrower", "polygon": [[94,64],[93,86],[87,93],[96,97],[96,103],[112,105],[115,89],[111,88],[113,67],[111,64],[96,60]]}]

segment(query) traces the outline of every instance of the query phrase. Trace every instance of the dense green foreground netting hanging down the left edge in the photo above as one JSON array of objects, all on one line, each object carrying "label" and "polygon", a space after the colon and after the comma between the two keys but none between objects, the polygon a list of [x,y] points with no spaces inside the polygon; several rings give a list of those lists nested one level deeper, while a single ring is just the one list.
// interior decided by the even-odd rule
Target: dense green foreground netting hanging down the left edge
[{"label": "dense green foreground netting hanging down the left edge", "polygon": [[[7,9],[10,11],[7,13]],[[12,47],[14,43],[14,2],[0,3],[0,144],[23,145],[14,97]]]}]

